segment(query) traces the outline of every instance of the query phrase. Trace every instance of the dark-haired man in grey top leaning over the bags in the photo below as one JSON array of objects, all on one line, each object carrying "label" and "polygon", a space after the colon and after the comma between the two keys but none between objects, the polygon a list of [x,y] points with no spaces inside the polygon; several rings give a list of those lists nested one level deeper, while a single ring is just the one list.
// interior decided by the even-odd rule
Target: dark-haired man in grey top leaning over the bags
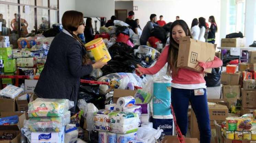
[{"label": "dark-haired man in grey top leaning over the bags", "polygon": [[151,14],[150,15],[150,21],[147,22],[145,27],[142,30],[140,42],[141,45],[147,45],[147,40],[150,37],[150,32],[154,27],[159,27],[159,25],[155,24],[156,23],[156,14]]}]

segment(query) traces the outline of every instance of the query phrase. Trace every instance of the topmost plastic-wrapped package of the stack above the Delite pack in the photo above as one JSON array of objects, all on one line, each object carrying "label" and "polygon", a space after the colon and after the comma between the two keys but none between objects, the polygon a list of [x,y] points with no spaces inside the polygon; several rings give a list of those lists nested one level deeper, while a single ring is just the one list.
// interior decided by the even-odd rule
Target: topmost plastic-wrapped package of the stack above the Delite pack
[{"label": "topmost plastic-wrapped package of the stack above the Delite pack", "polygon": [[74,107],[74,101],[68,99],[37,98],[29,103],[29,117],[61,117]]}]

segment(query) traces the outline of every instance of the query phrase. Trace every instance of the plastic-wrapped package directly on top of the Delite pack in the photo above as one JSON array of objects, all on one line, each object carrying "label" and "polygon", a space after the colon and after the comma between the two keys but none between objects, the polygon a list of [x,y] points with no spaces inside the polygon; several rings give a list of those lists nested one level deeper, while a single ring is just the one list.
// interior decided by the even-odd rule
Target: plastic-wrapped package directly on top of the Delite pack
[{"label": "plastic-wrapped package directly on top of the Delite pack", "polygon": [[24,120],[24,127],[34,132],[59,132],[60,128],[70,123],[70,111],[62,117],[33,117]]}]

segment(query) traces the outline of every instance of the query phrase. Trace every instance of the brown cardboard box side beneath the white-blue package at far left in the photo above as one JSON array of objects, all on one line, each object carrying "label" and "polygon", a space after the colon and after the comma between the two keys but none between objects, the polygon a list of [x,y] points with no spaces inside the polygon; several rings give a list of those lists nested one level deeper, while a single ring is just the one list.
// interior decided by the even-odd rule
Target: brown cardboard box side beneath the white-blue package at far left
[{"label": "brown cardboard box side beneath the white-blue package at far left", "polygon": [[0,98],[0,112],[15,112],[16,111],[15,99]]}]

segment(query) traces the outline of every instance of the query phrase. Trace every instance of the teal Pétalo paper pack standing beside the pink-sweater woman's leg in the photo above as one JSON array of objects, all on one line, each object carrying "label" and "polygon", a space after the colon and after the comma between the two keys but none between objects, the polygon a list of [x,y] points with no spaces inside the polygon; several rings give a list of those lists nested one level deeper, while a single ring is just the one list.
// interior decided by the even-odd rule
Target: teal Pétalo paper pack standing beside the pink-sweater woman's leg
[{"label": "teal P\u00e9talo paper pack standing beside the pink-sweater woman's leg", "polygon": [[153,115],[171,115],[170,81],[154,81]]}]

